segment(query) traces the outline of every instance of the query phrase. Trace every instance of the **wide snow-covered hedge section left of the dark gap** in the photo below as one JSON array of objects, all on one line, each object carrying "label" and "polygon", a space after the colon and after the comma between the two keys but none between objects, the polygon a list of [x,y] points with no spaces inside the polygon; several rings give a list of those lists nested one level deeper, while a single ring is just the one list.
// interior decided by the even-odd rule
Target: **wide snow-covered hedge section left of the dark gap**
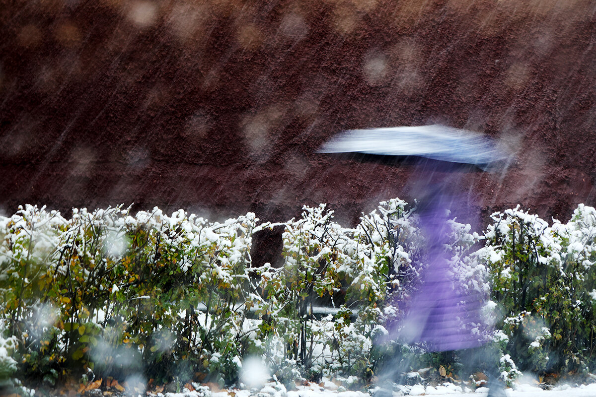
[{"label": "wide snow-covered hedge section left of the dark gap", "polygon": [[198,367],[233,379],[253,305],[256,221],[157,208],[134,217],[73,210],[66,220],[32,206],[2,218],[0,309],[22,342],[24,373],[54,383],[78,363],[119,375],[146,365],[158,378]]}]

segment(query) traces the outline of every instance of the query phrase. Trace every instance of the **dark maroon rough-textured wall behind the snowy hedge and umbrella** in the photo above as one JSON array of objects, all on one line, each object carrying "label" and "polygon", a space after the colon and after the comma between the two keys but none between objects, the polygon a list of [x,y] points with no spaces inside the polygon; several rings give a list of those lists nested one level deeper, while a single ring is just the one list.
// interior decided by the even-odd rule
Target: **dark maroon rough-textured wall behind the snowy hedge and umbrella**
[{"label": "dark maroon rough-textured wall behind the snowy hedge and umbrella", "polygon": [[[411,200],[407,164],[314,151],[443,123],[517,152],[457,189],[485,212],[594,204],[587,0],[0,0],[0,206],[131,202],[352,223]],[[440,177],[440,176],[439,176]]]}]

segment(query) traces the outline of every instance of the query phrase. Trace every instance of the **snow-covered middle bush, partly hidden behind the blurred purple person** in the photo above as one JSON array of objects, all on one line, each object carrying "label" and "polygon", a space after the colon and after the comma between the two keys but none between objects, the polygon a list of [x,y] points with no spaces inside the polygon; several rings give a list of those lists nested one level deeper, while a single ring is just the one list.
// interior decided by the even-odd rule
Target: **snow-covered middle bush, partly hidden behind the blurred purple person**
[{"label": "snow-covered middle bush, partly hidden behind the blurred purple person", "polygon": [[[488,273],[479,257],[471,255],[479,235],[455,220],[449,221],[448,230],[445,249],[452,282],[466,290],[464,295],[474,290],[473,296],[485,298]],[[285,355],[274,349],[271,358],[278,361],[271,361],[271,367],[282,368],[292,360],[305,376],[356,376],[366,382],[383,355],[395,350],[400,304],[415,292],[426,268],[426,242],[417,215],[406,202],[393,199],[362,215],[354,229],[346,229],[324,205],[305,207],[299,220],[285,225],[283,242],[283,267],[259,270],[266,302],[260,311],[261,336],[270,345],[272,340],[285,342]],[[333,321],[313,317],[315,298],[326,298],[339,308]],[[462,326],[484,337],[480,324]]]}]

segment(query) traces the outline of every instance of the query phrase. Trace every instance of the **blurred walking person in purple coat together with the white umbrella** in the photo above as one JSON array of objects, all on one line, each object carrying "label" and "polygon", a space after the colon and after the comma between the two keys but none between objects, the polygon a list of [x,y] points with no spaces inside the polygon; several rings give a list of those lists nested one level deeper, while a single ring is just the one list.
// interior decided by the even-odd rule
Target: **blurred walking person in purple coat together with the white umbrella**
[{"label": "blurred walking person in purple coat together with the white umbrella", "polygon": [[[490,380],[489,397],[505,396],[498,374],[498,352],[485,345],[482,335],[464,324],[482,324],[485,296],[454,284],[445,252],[448,220],[470,219],[471,198],[457,192],[461,173],[480,168],[502,170],[509,156],[485,135],[440,125],[350,130],[334,137],[319,152],[359,152],[384,156],[413,156],[416,172],[409,181],[418,198],[416,211],[426,237],[426,267],[408,302],[403,320],[390,330],[402,342],[426,351],[470,349],[467,367],[483,362]],[[473,218],[473,216],[472,216]],[[486,330],[488,333],[490,330]]]}]

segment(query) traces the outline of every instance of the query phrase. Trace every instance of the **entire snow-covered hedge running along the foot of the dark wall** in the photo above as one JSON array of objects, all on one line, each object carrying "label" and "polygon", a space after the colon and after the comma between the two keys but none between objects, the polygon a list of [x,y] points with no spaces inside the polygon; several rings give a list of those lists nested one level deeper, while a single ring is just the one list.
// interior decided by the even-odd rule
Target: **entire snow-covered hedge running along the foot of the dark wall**
[{"label": "entire snow-covered hedge running along the foot of the dark wall", "polygon": [[[488,298],[492,286],[483,311],[498,327],[503,376],[592,365],[594,208],[552,226],[519,207],[491,218],[483,234],[449,220],[444,248],[462,297]],[[280,225],[283,265],[253,268],[253,233]],[[15,362],[50,383],[76,366],[122,370],[123,354],[149,377],[185,362],[230,382],[241,358],[257,355],[288,382],[312,373],[364,381],[397,346],[386,324],[399,324],[399,303],[415,293],[426,246],[417,213],[399,199],[353,228],[325,205],[281,224],[122,207],[66,219],[27,205],[0,217],[0,314],[18,342]],[[335,314],[316,318],[321,302]]]}]

